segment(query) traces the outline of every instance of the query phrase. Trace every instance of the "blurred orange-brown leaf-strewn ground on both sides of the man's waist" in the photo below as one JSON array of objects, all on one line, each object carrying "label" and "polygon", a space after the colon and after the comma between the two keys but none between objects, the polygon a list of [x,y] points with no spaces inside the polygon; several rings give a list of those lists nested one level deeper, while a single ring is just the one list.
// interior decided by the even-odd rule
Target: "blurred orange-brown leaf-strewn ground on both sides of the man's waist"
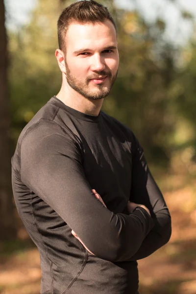
[{"label": "blurred orange-brown leaf-strewn ground on both sides of the man's waist", "polygon": [[[172,215],[172,238],[138,262],[140,294],[196,294],[195,188],[192,185],[165,193]],[[40,293],[36,248],[16,250],[0,261],[0,294]]]}]

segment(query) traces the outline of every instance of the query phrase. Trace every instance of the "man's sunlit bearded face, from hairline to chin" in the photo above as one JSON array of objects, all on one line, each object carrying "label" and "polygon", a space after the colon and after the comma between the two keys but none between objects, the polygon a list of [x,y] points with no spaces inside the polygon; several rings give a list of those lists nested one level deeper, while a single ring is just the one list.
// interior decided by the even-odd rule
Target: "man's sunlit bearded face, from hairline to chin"
[{"label": "man's sunlit bearded face, from hairline to chin", "polygon": [[65,38],[66,78],[71,88],[88,99],[106,97],[114,84],[119,53],[114,25],[72,23]]}]

